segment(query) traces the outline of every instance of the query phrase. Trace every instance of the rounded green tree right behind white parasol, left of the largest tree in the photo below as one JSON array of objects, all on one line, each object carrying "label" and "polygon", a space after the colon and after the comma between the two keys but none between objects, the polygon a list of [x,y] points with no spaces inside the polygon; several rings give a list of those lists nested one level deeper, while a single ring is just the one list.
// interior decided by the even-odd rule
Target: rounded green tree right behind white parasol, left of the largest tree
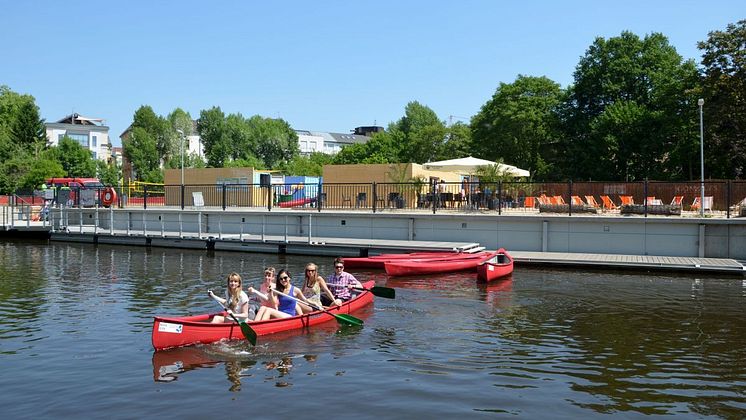
[{"label": "rounded green tree right behind white parasol, left of the largest tree", "polygon": [[537,179],[552,177],[562,99],[560,85],[546,77],[519,75],[513,83],[501,83],[472,118],[472,153],[504,159]]}]

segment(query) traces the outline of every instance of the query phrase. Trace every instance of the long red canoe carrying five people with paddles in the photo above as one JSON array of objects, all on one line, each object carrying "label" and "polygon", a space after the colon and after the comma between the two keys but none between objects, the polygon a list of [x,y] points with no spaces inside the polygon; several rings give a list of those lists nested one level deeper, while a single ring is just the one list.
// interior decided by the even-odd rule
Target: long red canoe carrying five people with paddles
[{"label": "long red canoe carrying five people with paddles", "polygon": [[[374,281],[363,283],[365,288],[375,286]],[[371,292],[361,292],[356,297],[348,300],[342,306],[330,307],[329,312],[337,314],[350,314],[366,305],[373,303]],[[171,347],[187,346],[197,343],[213,343],[224,339],[242,340],[241,328],[233,322],[211,324],[210,319],[218,314],[204,314],[186,317],[155,317],[153,319],[152,342],[156,350]],[[334,316],[321,311],[314,311],[283,319],[270,319],[267,321],[248,322],[258,336],[274,334],[281,331],[289,331],[307,328],[322,322],[334,321]]]}]

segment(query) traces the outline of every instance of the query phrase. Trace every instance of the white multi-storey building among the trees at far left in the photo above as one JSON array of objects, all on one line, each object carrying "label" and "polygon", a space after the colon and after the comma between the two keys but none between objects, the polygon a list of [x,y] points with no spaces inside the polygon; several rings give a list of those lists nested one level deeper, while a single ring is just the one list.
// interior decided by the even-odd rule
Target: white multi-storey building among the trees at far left
[{"label": "white multi-storey building among the trees at far left", "polygon": [[47,144],[50,146],[57,146],[60,140],[67,136],[90,150],[94,159],[107,161],[111,157],[109,127],[104,125],[104,120],[101,118],[72,114],[57,122],[44,125],[47,130]]}]

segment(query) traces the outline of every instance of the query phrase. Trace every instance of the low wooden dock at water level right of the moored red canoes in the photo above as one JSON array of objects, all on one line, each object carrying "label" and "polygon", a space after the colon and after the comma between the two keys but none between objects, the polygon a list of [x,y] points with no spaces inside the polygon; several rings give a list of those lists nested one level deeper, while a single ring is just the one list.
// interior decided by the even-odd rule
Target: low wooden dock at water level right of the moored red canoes
[{"label": "low wooden dock at water level right of the moored red canoes", "polygon": [[655,255],[577,254],[510,251],[517,264],[596,266],[604,268],[722,272],[746,275],[746,267],[730,258],[665,257]]}]

